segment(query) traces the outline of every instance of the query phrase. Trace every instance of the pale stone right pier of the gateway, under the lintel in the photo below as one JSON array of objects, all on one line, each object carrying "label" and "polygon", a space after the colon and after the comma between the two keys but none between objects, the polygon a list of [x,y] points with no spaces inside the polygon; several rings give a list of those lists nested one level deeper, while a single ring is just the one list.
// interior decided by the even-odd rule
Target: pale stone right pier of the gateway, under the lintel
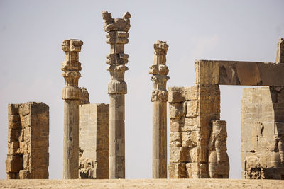
[{"label": "pale stone right pier of the gateway, under the lintel", "polygon": [[284,179],[284,88],[245,88],[241,100],[242,178]]}]

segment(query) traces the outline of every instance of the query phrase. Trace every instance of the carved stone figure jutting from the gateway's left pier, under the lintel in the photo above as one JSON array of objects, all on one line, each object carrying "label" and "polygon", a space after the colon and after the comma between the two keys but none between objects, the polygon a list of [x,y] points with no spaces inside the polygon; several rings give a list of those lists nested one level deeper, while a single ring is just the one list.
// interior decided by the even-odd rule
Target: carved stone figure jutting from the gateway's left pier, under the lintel
[{"label": "carved stone figure jutting from the gateway's left pier, under the lintel", "polygon": [[209,139],[209,176],[210,178],[229,178],[229,157],[226,153],[226,121],[212,121]]}]

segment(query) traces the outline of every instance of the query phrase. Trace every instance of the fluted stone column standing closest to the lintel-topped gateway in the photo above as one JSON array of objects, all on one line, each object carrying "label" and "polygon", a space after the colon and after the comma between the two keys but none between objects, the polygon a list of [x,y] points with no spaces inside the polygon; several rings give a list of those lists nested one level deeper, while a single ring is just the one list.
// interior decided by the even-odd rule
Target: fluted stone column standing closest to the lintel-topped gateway
[{"label": "fluted stone column standing closest to the lintel-topped gateway", "polygon": [[170,77],[165,65],[168,45],[157,41],[154,44],[154,63],[150,67],[154,84],[151,101],[153,102],[153,178],[167,178],[167,101],[166,83]]}]

